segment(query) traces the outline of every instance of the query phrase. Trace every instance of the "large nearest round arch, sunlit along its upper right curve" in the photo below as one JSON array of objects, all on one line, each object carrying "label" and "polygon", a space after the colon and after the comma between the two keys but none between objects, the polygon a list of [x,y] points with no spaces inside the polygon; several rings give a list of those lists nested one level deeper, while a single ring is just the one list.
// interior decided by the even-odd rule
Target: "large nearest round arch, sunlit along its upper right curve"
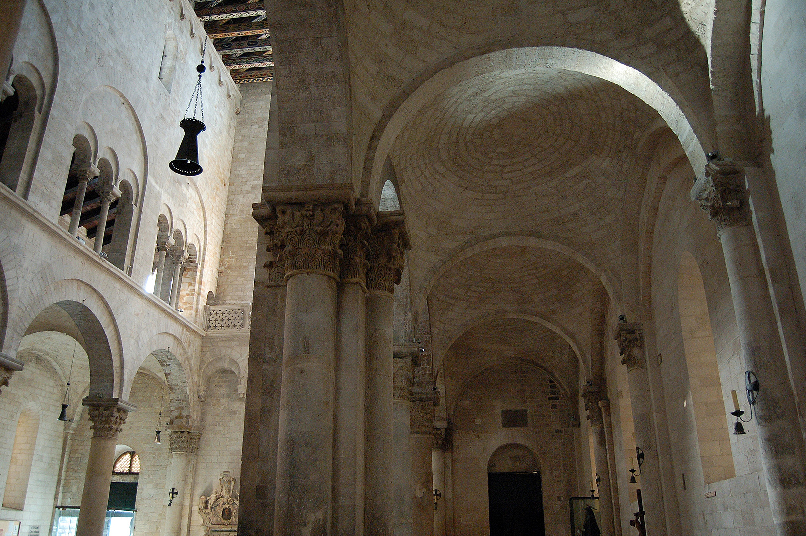
[{"label": "large nearest round arch, sunlit along its upper right curve", "polygon": [[[401,104],[391,114],[381,118],[372,133],[364,155],[361,196],[369,197],[378,206],[384,185],[384,163],[397,135],[409,118],[436,95],[462,81],[483,74],[501,71],[528,72],[531,69],[575,71],[609,81],[633,93],[660,114],[677,135],[692,167],[698,174],[704,173],[705,155],[713,150],[713,146],[704,128],[696,121],[693,110],[679,94],[672,96],[638,69],[596,52],[567,47],[508,48],[459,60],[419,85],[407,89],[408,94],[401,95]],[[667,87],[674,88],[674,85],[670,83]],[[669,89],[671,90],[673,89]]]}]

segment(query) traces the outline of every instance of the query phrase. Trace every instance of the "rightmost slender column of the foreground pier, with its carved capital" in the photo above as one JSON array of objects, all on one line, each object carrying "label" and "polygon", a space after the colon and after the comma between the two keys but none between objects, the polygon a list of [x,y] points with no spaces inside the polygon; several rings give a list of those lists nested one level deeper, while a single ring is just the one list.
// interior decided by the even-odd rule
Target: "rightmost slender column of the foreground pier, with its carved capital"
[{"label": "rightmost slender column of the foreground pier, with its carved capital", "polygon": [[367,354],[364,396],[364,534],[392,534],[393,292],[408,239],[401,219],[384,218],[367,251]]}]

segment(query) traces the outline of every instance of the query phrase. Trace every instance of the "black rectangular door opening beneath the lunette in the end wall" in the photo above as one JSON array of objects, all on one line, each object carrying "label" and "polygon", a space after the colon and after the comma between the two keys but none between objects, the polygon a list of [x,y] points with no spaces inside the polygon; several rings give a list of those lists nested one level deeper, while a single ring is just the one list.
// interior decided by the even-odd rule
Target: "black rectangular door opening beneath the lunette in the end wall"
[{"label": "black rectangular door opening beneath the lunette in the end wall", "polygon": [[545,536],[540,473],[488,473],[490,536]]}]

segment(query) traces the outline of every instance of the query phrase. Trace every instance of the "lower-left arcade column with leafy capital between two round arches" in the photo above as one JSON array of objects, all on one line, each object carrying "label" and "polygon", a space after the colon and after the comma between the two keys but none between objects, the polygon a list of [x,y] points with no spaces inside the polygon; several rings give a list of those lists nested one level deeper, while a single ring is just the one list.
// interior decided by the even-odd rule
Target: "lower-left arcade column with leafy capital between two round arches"
[{"label": "lower-left arcade column with leafy capital between two round arches", "polygon": [[93,438],[89,443],[89,461],[81,493],[76,536],[102,536],[112,480],[114,447],[118,432],[135,406],[118,398],[85,397],[89,420],[93,422]]}]

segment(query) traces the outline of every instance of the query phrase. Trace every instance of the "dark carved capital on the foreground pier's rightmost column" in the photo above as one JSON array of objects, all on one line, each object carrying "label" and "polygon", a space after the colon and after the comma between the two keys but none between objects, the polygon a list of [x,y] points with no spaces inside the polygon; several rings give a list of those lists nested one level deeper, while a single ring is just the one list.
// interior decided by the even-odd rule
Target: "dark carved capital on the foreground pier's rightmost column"
[{"label": "dark carved capital on the foreground pier's rightmost column", "polygon": [[403,276],[404,251],[409,236],[402,220],[380,222],[369,235],[367,249],[367,289],[393,294]]}]

